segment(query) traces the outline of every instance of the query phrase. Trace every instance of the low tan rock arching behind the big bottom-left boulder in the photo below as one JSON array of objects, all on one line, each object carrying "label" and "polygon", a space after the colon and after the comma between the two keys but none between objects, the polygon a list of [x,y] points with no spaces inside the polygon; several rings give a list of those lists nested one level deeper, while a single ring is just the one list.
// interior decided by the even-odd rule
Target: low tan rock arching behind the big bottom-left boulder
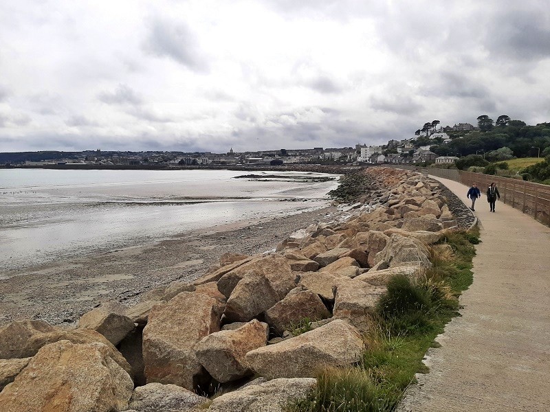
[{"label": "low tan rock arching behind the big bottom-left boulder", "polygon": [[31,336],[21,354],[23,357],[29,357],[36,355],[41,347],[50,345],[58,341],[69,341],[74,344],[85,343],[102,343],[109,348],[109,356],[118,363],[118,365],[124,369],[130,376],[132,376],[132,369],[126,359],[118,352],[115,346],[107,341],[107,338],[91,329],[75,329],[75,330],[54,330],[54,332],[37,333]]}]

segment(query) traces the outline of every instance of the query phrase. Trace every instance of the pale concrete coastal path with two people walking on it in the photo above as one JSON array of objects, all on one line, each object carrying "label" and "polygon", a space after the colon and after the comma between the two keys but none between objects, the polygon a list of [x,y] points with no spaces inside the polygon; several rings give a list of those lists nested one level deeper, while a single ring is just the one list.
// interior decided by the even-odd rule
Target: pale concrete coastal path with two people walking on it
[{"label": "pale concrete coastal path with two people walking on it", "polygon": [[[434,176],[432,176],[434,177]],[[468,188],[434,177],[466,199]],[[487,190],[481,187],[481,192]],[[399,411],[550,411],[550,228],[485,196],[474,283]]]}]

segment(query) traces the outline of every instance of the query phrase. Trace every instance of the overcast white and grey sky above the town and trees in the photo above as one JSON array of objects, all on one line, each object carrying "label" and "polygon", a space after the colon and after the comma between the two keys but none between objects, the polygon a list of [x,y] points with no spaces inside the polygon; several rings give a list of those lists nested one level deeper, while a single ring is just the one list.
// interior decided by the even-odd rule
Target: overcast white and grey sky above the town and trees
[{"label": "overcast white and grey sky above the town and trees", "polygon": [[324,148],[550,122],[543,0],[17,0],[0,152]]}]

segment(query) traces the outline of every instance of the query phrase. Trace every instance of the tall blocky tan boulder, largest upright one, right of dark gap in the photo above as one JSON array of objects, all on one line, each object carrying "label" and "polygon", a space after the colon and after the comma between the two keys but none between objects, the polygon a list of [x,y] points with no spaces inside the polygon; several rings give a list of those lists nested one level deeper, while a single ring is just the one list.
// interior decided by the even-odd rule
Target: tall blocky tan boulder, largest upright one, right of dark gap
[{"label": "tall blocky tan boulder, largest upright one, right of dark gap", "polygon": [[195,345],[219,331],[221,306],[201,293],[182,292],[153,307],[143,330],[143,360],[148,383],[195,389],[203,376]]}]

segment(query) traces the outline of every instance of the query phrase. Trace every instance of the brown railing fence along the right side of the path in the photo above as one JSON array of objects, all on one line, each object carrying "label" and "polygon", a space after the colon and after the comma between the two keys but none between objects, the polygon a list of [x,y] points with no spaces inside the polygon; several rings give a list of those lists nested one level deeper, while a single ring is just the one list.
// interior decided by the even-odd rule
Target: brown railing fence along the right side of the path
[{"label": "brown railing fence along the right side of the path", "polygon": [[442,177],[443,179],[458,181],[468,187],[472,183],[477,183],[482,194],[485,194],[487,187],[494,182],[500,193],[500,201],[532,216],[538,222],[550,226],[549,185],[540,185],[539,183],[493,176],[491,174],[465,172],[463,170],[430,168],[424,169],[423,172],[428,172],[428,174]]}]

